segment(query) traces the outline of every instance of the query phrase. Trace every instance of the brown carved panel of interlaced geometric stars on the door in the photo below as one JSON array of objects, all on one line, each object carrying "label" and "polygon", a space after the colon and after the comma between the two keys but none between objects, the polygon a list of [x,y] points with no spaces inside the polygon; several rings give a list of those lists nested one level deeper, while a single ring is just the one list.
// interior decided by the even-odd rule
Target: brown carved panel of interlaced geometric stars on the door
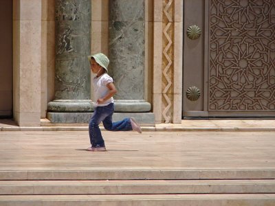
[{"label": "brown carved panel of interlaced geometric stars on the door", "polygon": [[210,0],[209,111],[274,111],[275,1]]}]

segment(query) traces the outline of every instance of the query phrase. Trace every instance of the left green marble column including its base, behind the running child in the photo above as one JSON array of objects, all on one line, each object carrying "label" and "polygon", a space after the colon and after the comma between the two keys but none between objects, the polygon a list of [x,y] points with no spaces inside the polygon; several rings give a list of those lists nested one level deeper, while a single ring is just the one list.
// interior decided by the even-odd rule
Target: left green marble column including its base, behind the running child
[{"label": "left green marble column including its base, behind the running child", "polygon": [[51,122],[85,123],[92,111],[87,56],[91,48],[91,0],[56,0],[55,100]]}]

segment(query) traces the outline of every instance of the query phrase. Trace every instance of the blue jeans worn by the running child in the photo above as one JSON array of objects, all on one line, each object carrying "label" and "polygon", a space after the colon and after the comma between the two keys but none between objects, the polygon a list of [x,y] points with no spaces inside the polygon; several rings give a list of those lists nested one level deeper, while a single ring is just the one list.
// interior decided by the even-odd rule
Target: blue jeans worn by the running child
[{"label": "blue jeans worn by the running child", "polygon": [[103,123],[105,129],[109,131],[129,131],[133,130],[129,118],[125,118],[122,121],[112,122],[113,111],[115,111],[113,103],[107,106],[97,106],[94,115],[89,121],[89,137],[91,146],[104,147],[104,139],[101,135],[98,124]]}]

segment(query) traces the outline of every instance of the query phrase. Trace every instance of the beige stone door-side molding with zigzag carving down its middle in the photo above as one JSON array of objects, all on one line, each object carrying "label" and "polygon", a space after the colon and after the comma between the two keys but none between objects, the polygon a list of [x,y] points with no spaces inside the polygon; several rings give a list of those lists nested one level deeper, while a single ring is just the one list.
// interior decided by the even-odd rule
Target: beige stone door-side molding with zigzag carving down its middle
[{"label": "beige stone door-side molding with zigzag carving down its middle", "polygon": [[153,112],[181,123],[183,0],[153,1]]}]

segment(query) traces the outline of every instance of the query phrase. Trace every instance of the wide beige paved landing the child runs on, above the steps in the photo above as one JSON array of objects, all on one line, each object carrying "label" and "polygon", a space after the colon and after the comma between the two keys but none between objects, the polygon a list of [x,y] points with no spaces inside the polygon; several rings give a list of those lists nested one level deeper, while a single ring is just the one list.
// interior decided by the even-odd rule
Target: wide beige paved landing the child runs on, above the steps
[{"label": "wide beige paved landing the child runs on, above the steps", "polygon": [[1,131],[0,170],[274,170],[275,132],[102,132],[107,152],[87,152],[87,131]]}]

